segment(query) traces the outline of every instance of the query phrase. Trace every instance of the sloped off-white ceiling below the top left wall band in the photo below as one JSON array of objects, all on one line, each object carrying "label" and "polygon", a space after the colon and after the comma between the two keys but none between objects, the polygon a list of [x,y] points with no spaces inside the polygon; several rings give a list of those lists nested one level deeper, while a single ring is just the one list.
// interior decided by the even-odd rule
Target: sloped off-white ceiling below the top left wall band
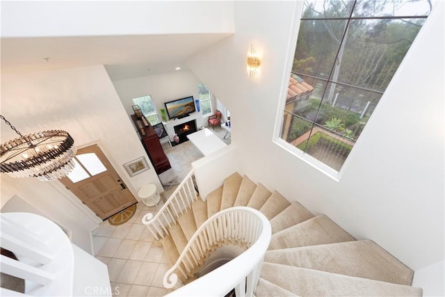
[{"label": "sloped off-white ceiling below the top left wall band", "polygon": [[1,38],[1,73],[105,65],[111,80],[186,69],[186,59],[229,33]]}]

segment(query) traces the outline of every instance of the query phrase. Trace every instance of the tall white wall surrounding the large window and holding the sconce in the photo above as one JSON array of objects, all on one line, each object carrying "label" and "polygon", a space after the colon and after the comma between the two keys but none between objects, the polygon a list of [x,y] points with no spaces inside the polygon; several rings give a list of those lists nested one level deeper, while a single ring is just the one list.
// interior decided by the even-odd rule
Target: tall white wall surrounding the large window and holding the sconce
[{"label": "tall white wall surrounding the large window and holding the sconce", "polygon": [[[412,45],[339,182],[273,143],[277,106],[284,101],[289,78],[290,64],[285,61],[290,63],[296,45],[298,17],[293,13],[299,15],[301,4],[236,2],[236,33],[188,61],[191,70],[230,110],[232,143],[240,150],[244,172],[314,213],[327,214],[357,239],[373,239],[414,271],[441,262],[442,3],[437,4],[442,9],[435,8]],[[249,81],[245,57],[250,44],[262,58],[261,73]]]}]

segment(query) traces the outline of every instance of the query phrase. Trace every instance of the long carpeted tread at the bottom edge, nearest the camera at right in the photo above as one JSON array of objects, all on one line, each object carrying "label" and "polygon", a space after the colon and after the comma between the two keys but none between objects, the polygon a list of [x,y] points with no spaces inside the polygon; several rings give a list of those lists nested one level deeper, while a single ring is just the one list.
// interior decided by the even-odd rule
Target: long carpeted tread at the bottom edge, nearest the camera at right
[{"label": "long carpeted tread at the bottom edge, nearest the camera at right", "polygon": [[422,289],[402,284],[268,262],[261,278],[298,296],[422,296]]}]

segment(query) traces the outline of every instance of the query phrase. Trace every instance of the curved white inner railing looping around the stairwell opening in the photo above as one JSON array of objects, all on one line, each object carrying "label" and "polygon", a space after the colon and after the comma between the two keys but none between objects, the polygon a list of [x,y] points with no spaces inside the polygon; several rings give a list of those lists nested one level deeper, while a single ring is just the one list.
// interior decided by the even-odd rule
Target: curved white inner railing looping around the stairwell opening
[{"label": "curved white inner railing looping around the stairwell opening", "polygon": [[184,279],[188,278],[188,274],[195,271],[214,248],[230,242],[248,249],[169,296],[226,296],[232,289],[236,296],[253,296],[271,234],[269,220],[256,209],[224,209],[198,228],[175,265],[165,273],[163,285],[166,288],[177,286],[175,271],[179,271]]}]

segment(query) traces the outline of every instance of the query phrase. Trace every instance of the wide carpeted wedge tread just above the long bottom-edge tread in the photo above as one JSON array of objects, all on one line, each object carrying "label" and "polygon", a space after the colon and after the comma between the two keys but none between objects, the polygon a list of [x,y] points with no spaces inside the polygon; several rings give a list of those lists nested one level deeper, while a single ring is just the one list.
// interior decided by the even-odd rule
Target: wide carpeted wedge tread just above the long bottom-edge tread
[{"label": "wide carpeted wedge tread just above the long bottom-edge tread", "polygon": [[268,250],[265,262],[410,286],[414,271],[371,240]]}]

